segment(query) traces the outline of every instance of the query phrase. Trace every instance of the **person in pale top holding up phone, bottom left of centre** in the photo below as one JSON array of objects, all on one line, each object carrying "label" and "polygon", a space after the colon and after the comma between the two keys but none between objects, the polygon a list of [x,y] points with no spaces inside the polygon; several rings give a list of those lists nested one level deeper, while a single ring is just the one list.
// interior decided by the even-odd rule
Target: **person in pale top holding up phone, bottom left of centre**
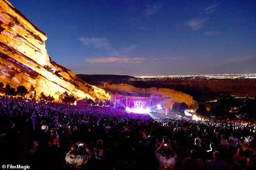
[{"label": "person in pale top holding up phone, bottom left of centre", "polygon": [[[87,155],[78,155],[79,147],[87,151]],[[66,154],[65,162],[69,170],[84,170],[85,164],[92,157],[92,153],[85,143],[75,143]]]}]

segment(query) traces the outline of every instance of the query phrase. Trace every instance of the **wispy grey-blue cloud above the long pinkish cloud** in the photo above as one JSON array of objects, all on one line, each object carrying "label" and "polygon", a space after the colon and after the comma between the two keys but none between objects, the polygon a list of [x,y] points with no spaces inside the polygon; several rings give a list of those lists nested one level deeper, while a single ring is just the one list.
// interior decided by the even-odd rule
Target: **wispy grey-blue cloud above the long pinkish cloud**
[{"label": "wispy grey-blue cloud above the long pinkish cloud", "polygon": [[88,38],[88,37],[79,37],[78,38],[84,45],[92,45],[95,48],[103,48],[106,50],[113,50],[110,46],[107,38]]}]

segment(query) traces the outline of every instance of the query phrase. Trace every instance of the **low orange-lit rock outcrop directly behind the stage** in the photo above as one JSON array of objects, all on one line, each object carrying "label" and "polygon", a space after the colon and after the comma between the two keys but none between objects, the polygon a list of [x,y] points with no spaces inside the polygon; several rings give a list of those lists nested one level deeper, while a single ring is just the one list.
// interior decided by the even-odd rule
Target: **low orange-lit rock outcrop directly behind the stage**
[{"label": "low orange-lit rock outcrop directly behind the stage", "polygon": [[104,84],[104,89],[107,91],[112,92],[118,92],[118,91],[124,91],[124,92],[134,92],[134,93],[151,93],[151,94],[159,94],[163,98],[170,98],[170,102],[174,104],[185,102],[188,106],[193,105],[195,101],[193,100],[193,97],[190,95],[187,95],[180,91],[175,91],[173,89],[167,89],[167,88],[159,88],[151,87],[151,88],[138,88],[134,87],[132,85],[128,84]]}]

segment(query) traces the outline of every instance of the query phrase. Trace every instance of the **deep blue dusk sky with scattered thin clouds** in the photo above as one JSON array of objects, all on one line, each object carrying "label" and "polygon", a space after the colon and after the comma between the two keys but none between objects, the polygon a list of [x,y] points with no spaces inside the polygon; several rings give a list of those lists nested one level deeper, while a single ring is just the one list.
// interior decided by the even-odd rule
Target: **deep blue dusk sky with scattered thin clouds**
[{"label": "deep blue dusk sky with scattered thin clouds", "polygon": [[76,74],[256,73],[255,0],[10,0]]}]

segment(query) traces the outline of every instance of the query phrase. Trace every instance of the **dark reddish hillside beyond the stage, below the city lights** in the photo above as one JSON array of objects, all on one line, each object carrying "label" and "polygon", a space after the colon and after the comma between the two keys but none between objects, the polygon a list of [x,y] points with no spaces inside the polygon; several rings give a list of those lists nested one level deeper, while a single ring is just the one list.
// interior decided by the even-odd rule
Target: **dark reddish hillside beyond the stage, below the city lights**
[{"label": "dark reddish hillside beyond the stage, below the city lights", "polygon": [[134,77],[127,75],[77,75],[80,79],[91,85],[103,87],[104,83],[122,84],[127,83],[134,87],[140,88],[169,88],[176,91],[193,96],[197,101],[208,101],[218,99],[226,95],[256,96],[256,79],[220,79],[220,80],[201,80],[201,79],[185,79],[185,80],[161,80],[161,81],[130,81]]}]

